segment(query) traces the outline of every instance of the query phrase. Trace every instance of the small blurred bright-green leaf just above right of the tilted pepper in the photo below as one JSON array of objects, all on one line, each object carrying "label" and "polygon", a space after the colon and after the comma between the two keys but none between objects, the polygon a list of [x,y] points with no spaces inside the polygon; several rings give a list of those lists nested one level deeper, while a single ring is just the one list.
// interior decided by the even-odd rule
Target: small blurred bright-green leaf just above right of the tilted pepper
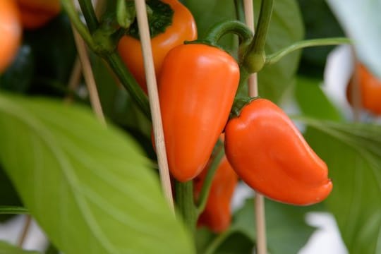
[{"label": "small blurred bright-green leaf just above right of the tilted pepper", "polygon": [[298,77],[295,88],[296,102],[303,114],[317,119],[340,121],[343,117],[320,87],[321,80]]}]

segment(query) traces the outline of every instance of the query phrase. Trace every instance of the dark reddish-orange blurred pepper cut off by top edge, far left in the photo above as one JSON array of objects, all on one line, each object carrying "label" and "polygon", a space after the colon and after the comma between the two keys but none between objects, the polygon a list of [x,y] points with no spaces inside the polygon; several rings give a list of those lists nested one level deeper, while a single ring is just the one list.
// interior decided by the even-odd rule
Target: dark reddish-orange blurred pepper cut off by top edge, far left
[{"label": "dark reddish-orange blurred pepper cut off by top edge, far left", "polygon": [[16,2],[25,29],[41,28],[61,11],[59,0],[16,0]]}]

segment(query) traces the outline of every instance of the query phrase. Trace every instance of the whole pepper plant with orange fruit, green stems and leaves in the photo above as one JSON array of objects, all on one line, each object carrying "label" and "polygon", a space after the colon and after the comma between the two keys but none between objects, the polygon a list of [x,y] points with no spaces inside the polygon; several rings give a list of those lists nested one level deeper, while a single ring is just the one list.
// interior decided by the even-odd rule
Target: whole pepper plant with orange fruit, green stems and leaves
[{"label": "whole pepper plant with orange fruit, green stems and leaves", "polygon": [[[358,29],[355,0],[254,0],[254,33],[241,0],[146,1],[174,210],[135,1],[75,2],[1,2],[0,30],[16,38],[0,37],[1,219],[29,214],[47,253],[250,253],[253,200],[231,209],[239,181],[267,198],[269,253],[298,253],[314,211],[334,215],[350,253],[381,251],[381,128],[345,119],[318,85],[339,44],[380,75],[380,22]],[[376,17],[370,2],[359,24]],[[309,8],[333,20],[334,37],[308,23]],[[248,96],[253,73],[259,97]],[[1,251],[28,253],[3,241]]]}]

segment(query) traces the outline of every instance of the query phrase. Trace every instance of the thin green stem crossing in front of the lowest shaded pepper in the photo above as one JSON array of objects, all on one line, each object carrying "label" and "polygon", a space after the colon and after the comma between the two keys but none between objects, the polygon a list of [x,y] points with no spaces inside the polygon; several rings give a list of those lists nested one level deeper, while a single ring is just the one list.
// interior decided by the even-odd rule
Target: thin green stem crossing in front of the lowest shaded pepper
[{"label": "thin green stem crossing in front of the lowest shaded pepper", "polygon": [[221,162],[222,157],[224,157],[224,145],[222,142],[219,142],[217,145],[217,154],[214,156],[212,164],[210,164],[209,169],[207,170],[207,175],[205,176],[204,182],[202,183],[202,188],[200,191],[200,197],[198,199],[197,214],[200,214],[205,210],[207,204],[207,198],[209,197],[210,188],[212,187],[212,181],[214,174],[216,173],[219,163]]}]

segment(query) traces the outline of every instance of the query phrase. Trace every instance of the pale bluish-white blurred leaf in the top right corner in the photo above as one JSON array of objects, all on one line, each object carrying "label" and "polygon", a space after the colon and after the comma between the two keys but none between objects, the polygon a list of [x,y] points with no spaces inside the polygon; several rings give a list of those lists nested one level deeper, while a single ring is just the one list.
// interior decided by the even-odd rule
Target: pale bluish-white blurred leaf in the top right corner
[{"label": "pale bluish-white blurred leaf in the top right corner", "polygon": [[326,1],[346,34],[355,41],[360,61],[381,78],[381,1]]}]

